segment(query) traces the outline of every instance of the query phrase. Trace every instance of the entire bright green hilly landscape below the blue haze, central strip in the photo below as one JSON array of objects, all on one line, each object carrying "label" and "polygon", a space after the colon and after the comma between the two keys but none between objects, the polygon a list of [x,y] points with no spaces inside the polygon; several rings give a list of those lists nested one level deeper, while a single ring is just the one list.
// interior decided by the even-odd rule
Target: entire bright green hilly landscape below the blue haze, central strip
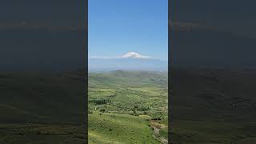
[{"label": "entire bright green hilly landscape below the blue haze, central strip", "polygon": [[167,74],[89,74],[90,143],[166,143]]}]

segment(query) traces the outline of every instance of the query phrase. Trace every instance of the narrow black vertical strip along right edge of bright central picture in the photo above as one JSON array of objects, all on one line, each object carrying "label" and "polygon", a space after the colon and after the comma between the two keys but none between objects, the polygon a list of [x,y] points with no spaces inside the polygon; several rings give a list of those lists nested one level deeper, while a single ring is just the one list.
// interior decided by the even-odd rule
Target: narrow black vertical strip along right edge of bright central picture
[{"label": "narrow black vertical strip along right edge of bright central picture", "polygon": [[171,47],[171,0],[168,0],[168,142],[172,142],[172,125],[173,125],[173,115],[172,115],[172,90],[171,90],[171,69],[170,65],[172,62],[172,47]]}]

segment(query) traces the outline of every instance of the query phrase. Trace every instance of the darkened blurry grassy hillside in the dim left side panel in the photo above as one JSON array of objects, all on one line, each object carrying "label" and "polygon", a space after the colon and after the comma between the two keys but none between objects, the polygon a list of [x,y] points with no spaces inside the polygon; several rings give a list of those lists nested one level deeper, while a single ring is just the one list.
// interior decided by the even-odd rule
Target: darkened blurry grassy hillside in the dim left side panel
[{"label": "darkened blurry grassy hillside in the dim left side panel", "polygon": [[0,73],[0,143],[82,143],[82,71]]}]

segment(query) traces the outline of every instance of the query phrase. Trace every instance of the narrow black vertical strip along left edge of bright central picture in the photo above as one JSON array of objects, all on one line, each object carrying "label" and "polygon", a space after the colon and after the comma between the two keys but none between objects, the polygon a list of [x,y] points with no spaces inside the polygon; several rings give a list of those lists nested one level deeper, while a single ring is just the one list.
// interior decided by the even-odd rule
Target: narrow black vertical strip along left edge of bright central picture
[{"label": "narrow black vertical strip along left edge of bright central picture", "polygon": [[84,13],[84,34],[85,34],[85,43],[84,43],[84,47],[83,49],[85,50],[85,87],[84,87],[84,113],[85,113],[85,137],[86,137],[86,143],[88,143],[88,0],[83,0],[84,3],[82,3],[82,5],[84,6],[84,10],[82,11],[82,13]]}]

